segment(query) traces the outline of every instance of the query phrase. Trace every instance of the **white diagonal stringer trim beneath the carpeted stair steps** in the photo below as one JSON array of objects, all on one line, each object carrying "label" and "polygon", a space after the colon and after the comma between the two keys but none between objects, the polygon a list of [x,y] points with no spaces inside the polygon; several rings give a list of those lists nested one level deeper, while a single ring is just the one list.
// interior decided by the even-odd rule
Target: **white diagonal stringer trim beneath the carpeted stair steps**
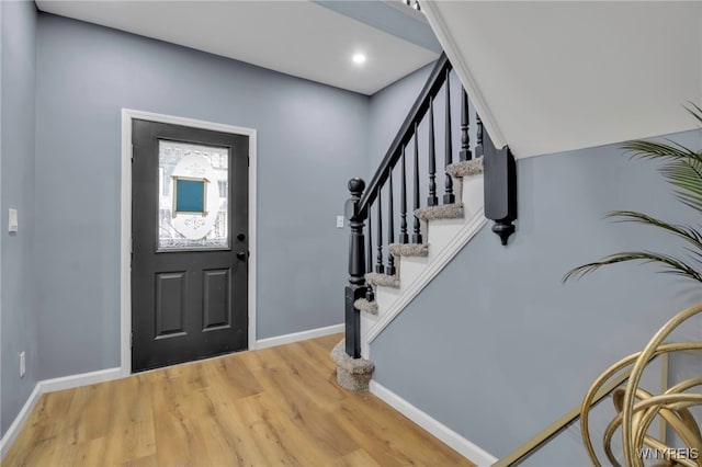
[{"label": "white diagonal stringer trim beneath the carpeted stair steps", "polygon": [[393,303],[393,305],[383,311],[378,320],[369,330],[367,334],[362,339],[370,344],[377,338],[381,332],[405,309],[411,300],[427,286],[429,283],[445,267],[446,264],[455,257],[458,251],[477,234],[478,230],[487,223],[484,209],[480,206],[473,217],[461,226],[455,237],[446,244],[445,248],[437,255],[437,258],[427,265],[415,282],[404,291],[401,296]]}]

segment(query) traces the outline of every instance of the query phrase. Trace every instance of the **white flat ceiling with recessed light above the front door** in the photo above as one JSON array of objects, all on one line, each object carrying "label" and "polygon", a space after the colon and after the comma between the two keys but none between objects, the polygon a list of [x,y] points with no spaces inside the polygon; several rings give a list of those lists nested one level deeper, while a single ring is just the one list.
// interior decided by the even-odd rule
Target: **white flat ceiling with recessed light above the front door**
[{"label": "white flat ceiling with recessed light above the front door", "polygon": [[[235,58],[363,94],[375,93],[439,56],[434,50],[320,3],[303,0],[36,1],[37,8],[48,13]],[[399,15],[416,13],[403,13],[404,8],[389,10]],[[412,21],[417,23],[418,20],[415,16]],[[355,52],[367,56],[363,66],[351,61]]]}]

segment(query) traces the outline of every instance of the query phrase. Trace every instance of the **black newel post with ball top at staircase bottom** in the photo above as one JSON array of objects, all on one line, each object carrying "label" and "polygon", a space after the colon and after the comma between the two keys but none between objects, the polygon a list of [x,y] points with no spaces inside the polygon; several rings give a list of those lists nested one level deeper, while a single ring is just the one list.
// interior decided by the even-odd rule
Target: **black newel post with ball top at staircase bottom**
[{"label": "black newel post with ball top at staircase bottom", "polygon": [[361,179],[349,181],[351,197],[346,204],[346,216],[351,227],[349,236],[349,284],[346,287],[346,351],[352,358],[361,357],[361,312],[353,303],[365,296],[365,241],[363,221],[367,215],[359,212],[365,182]]}]

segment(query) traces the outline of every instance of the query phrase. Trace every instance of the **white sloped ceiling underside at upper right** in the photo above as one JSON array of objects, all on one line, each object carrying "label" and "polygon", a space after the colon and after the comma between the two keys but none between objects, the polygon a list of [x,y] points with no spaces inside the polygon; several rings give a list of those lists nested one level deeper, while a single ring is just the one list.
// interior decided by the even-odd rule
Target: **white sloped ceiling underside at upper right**
[{"label": "white sloped ceiling underside at upper right", "polygon": [[702,2],[424,1],[499,146],[517,157],[697,128]]}]

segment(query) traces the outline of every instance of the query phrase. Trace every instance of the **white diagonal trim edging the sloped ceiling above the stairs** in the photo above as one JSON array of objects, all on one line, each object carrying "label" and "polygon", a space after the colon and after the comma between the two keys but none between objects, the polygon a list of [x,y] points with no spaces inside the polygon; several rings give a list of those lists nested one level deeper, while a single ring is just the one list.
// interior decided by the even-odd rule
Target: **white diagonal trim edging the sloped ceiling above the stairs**
[{"label": "white diagonal trim edging the sloped ceiling above the stairs", "polygon": [[475,105],[476,111],[480,115],[480,119],[487,128],[487,132],[490,134],[490,138],[492,139],[495,147],[499,149],[507,146],[507,140],[502,135],[502,130],[492,115],[492,112],[490,112],[487,102],[485,102],[485,98],[476,84],[476,81],[471,73],[471,69],[467,67],[463,56],[457,53],[460,48],[453,41],[452,35],[449,34],[449,27],[439,12],[439,8],[431,1],[423,2],[421,8],[427,15],[427,20],[429,20],[431,29],[437,34],[439,43],[446,53],[449,60],[451,60],[453,69],[456,71],[461,82],[465,86],[466,92],[471,96],[471,102]]}]

